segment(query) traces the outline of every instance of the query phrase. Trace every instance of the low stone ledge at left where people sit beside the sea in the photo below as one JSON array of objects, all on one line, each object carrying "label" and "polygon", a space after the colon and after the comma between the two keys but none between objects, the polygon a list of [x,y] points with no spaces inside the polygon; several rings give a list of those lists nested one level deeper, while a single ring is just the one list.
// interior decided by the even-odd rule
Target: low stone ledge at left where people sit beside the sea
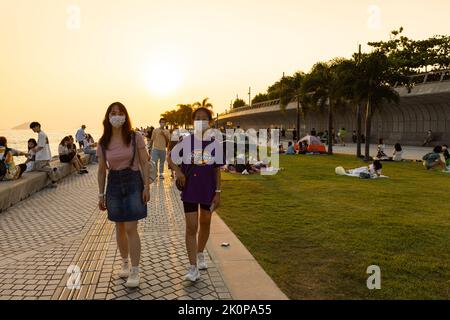
[{"label": "low stone ledge at left where people sit beside the sea", "polygon": [[[80,154],[84,164],[91,161],[89,155]],[[61,163],[54,158],[51,166],[58,168],[59,180],[75,172],[75,168],[69,163]],[[6,211],[14,204],[28,198],[32,194],[44,189],[48,184],[45,172],[25,172],[23,176],[15,181],[0,182],[0,213]]]}]

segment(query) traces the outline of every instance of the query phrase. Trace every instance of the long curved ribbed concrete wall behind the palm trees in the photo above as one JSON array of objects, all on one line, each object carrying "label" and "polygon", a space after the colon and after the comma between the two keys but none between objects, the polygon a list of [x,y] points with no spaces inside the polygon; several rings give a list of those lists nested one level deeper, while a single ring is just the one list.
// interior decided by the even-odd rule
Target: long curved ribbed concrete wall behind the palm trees
[{"label": "long curved ribbed concrete wall behind the palm trees", "polygon": [[[421,145],[428,130],[432,130],[435,143],[450,143],[450,82],[430,83],[414,87],[411,92],[398,88],[400,104],[385,104],[374,114],[371,141],[383,138],[385,143],[400,142],[405,145]],[[219,116],[219,125],[232,122],[242,128],[279,127],[292,130],[296,126],[297,102],[288,104],[281,111],[278,104],[258,108],[247,108],[240,112]],[[356,116],[353,110],[336,109],[334,128],[344,127],[347,132],[356,130]],[[315,128],[326,130],[326,111],[307,113],[301,119],[301,134]],[[364,130],[364,123],[363,123]],[[289,137],[289,136],[288,136]],[[351,139],[351,134],[348,135]]]}]

